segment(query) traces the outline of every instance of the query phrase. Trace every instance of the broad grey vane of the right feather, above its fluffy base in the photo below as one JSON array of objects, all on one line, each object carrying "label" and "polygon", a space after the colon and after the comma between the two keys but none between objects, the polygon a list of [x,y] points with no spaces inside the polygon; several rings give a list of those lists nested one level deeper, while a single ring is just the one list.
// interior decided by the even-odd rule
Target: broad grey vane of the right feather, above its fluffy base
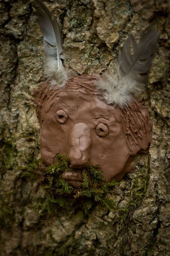
[{"label": "broad grey vane of the right feather, above its fluffy base", "polygon": [[[118,57],[120,78],[124,78],[124,80],[128,80],[132,84],[146,83],[151,62],[158,47],[158,36],[159,34],[156,30],[150,29],[146,33],[142,32],[139,43],[136,43],[132,35],[128,37]],[[130,41],[133,54],[129,45]]]}]

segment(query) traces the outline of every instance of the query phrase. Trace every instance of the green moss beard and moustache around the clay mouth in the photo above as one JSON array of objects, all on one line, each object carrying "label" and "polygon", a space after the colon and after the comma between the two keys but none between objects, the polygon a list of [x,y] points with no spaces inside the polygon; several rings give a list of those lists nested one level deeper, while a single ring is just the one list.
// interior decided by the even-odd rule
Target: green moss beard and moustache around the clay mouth
[{"label": "green moss beard and moustache around the clay mouth", "polygon": [[114,201],[107,194],[116,184],[115,181],[106,183],[98,167],[89,166],[82,170],[82,187],[75,189],[61,177],[63,172],[71,170],[65,155],[57,155],[57,163],[42,169],[42,184],[47,191],[46,202],[38,207],[43,210],[42,214],[44,211],[51,214],[57,210],[57,206],[69,213],[79,209],[88,213],[98,203],[105,209],[114,207]]}]

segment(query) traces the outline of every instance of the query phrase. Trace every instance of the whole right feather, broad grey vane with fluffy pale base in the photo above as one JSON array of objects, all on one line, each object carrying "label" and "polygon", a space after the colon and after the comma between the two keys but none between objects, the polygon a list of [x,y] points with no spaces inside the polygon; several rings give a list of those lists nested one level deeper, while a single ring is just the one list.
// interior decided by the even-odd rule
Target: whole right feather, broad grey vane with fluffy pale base
[{"label": "whole right feather, broad grey vane with fluffy pale base", "polygon": [[133,96],[139,96],[147,81],[152,59],[158,47],[158,36],[156,30],[150,29],[146,33],[142,32],[139,43],[132,35],[128,37],[118,56],[119,79],[113,74],[106,74],[105,79],[100,79],[96,83],[104,92],[103,96],[108,104],[114,103],[124,107],[133,101]]}]

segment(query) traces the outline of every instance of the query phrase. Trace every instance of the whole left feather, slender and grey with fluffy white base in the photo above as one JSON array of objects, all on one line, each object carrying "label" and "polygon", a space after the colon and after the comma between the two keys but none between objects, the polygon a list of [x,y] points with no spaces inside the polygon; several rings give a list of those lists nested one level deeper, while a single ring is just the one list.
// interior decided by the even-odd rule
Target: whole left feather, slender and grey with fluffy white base
[{"label": "whole left feather, slender and grey with fluffy white base", "polygon": [[61,59],[64,59],[62,54],[62,37],[60,28],[55,17],[48,8],[41,2],[35,0],[33,7],[38,12],[39,27],[43,33],[44,52],[46,53],[45,74],[51,80],[51,84],[56,82],[60,87],[63,87],[67,81],[67,73],[62,66]]}]

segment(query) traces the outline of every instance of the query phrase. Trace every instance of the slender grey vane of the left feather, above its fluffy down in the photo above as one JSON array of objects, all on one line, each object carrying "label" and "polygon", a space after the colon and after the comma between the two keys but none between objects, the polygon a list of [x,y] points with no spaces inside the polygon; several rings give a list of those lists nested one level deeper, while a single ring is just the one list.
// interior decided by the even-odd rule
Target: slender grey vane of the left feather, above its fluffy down
[{"label": "slender grey vane of the left feather, above its fluffy down", "polygon": [[52,16],[52,13],[40,0],[34,1],[33,6],[38,12],[39,26],[44,36],[44,51],[47,57],[55,57],[57,59],[59,68],[61,65],[60,54],[63,52],[63,49],[58,23],[55,17]]}]

